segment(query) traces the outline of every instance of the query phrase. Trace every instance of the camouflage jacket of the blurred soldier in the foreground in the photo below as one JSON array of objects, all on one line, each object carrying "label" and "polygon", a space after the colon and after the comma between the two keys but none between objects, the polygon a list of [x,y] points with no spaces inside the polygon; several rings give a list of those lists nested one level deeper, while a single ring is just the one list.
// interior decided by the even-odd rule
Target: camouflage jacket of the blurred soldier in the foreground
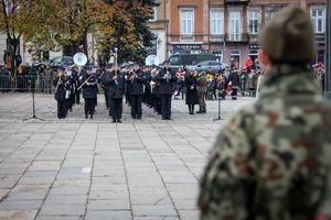
[{"label": "camouflage jacket of the blurred soldier in the foreground", "polygon": [[201,179],[201,219],[329,217],[330,164],[330,102],[309,69],[275,66],[257,102],[216,139]]}]

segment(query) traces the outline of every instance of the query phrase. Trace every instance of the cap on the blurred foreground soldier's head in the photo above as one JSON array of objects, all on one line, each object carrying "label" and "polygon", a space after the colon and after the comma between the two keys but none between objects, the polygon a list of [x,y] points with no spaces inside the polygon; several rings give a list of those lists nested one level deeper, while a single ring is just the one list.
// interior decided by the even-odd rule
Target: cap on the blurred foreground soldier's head
[{"label": "cap on the blurred foreground soldier's head", "polygon": [[275,63],[308,63],[316,52],[312,23],[300,8],[277,12],[261,31],[259,43]]}]

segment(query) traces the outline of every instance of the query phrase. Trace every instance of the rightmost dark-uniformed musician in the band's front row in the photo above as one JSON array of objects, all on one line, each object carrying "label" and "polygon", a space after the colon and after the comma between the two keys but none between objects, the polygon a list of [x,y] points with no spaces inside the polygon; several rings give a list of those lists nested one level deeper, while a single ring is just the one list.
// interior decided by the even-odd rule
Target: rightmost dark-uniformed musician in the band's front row
[{"label": "rightmost dark-uniformed musician in the band's front row", "polygon": [[159,94],[161,97],[162,120],[171,120],[171,97],[177,76],[171,70],[169,63],[164,63],[164,68],[157,75],[156,80],[160,82]]}]

